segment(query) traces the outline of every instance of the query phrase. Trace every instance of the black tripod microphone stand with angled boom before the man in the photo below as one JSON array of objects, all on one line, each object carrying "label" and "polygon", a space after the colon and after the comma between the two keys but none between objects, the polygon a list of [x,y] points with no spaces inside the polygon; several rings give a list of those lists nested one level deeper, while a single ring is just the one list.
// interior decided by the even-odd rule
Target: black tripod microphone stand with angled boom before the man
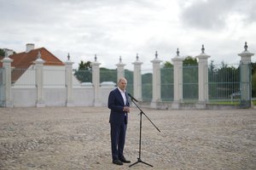
[{"label": "black tripod microphone stand with angled boom before the man", "polygon": [[[133,164],[131,164],[129,167],[134,166],[135,164],[142,162],[150,167],[153,167],[153,165],[150,165],[149,163],[142,161],[141,159],[141,149],[142,149],[142,127],[143,127],[143,115],[148,118],[148,116],[142,111],[142,109],[135,103],[134,99],[131,98],[132,103],[137,106],[137,108],[140,110],[140,140],[139,140],[139,157],[137,158],[137,161]],[[154,125],[154,122],[152,122],[149,118],[148,121],[151,122]],[[154,127],[160,132],[159,128],[154,125]]]}]

